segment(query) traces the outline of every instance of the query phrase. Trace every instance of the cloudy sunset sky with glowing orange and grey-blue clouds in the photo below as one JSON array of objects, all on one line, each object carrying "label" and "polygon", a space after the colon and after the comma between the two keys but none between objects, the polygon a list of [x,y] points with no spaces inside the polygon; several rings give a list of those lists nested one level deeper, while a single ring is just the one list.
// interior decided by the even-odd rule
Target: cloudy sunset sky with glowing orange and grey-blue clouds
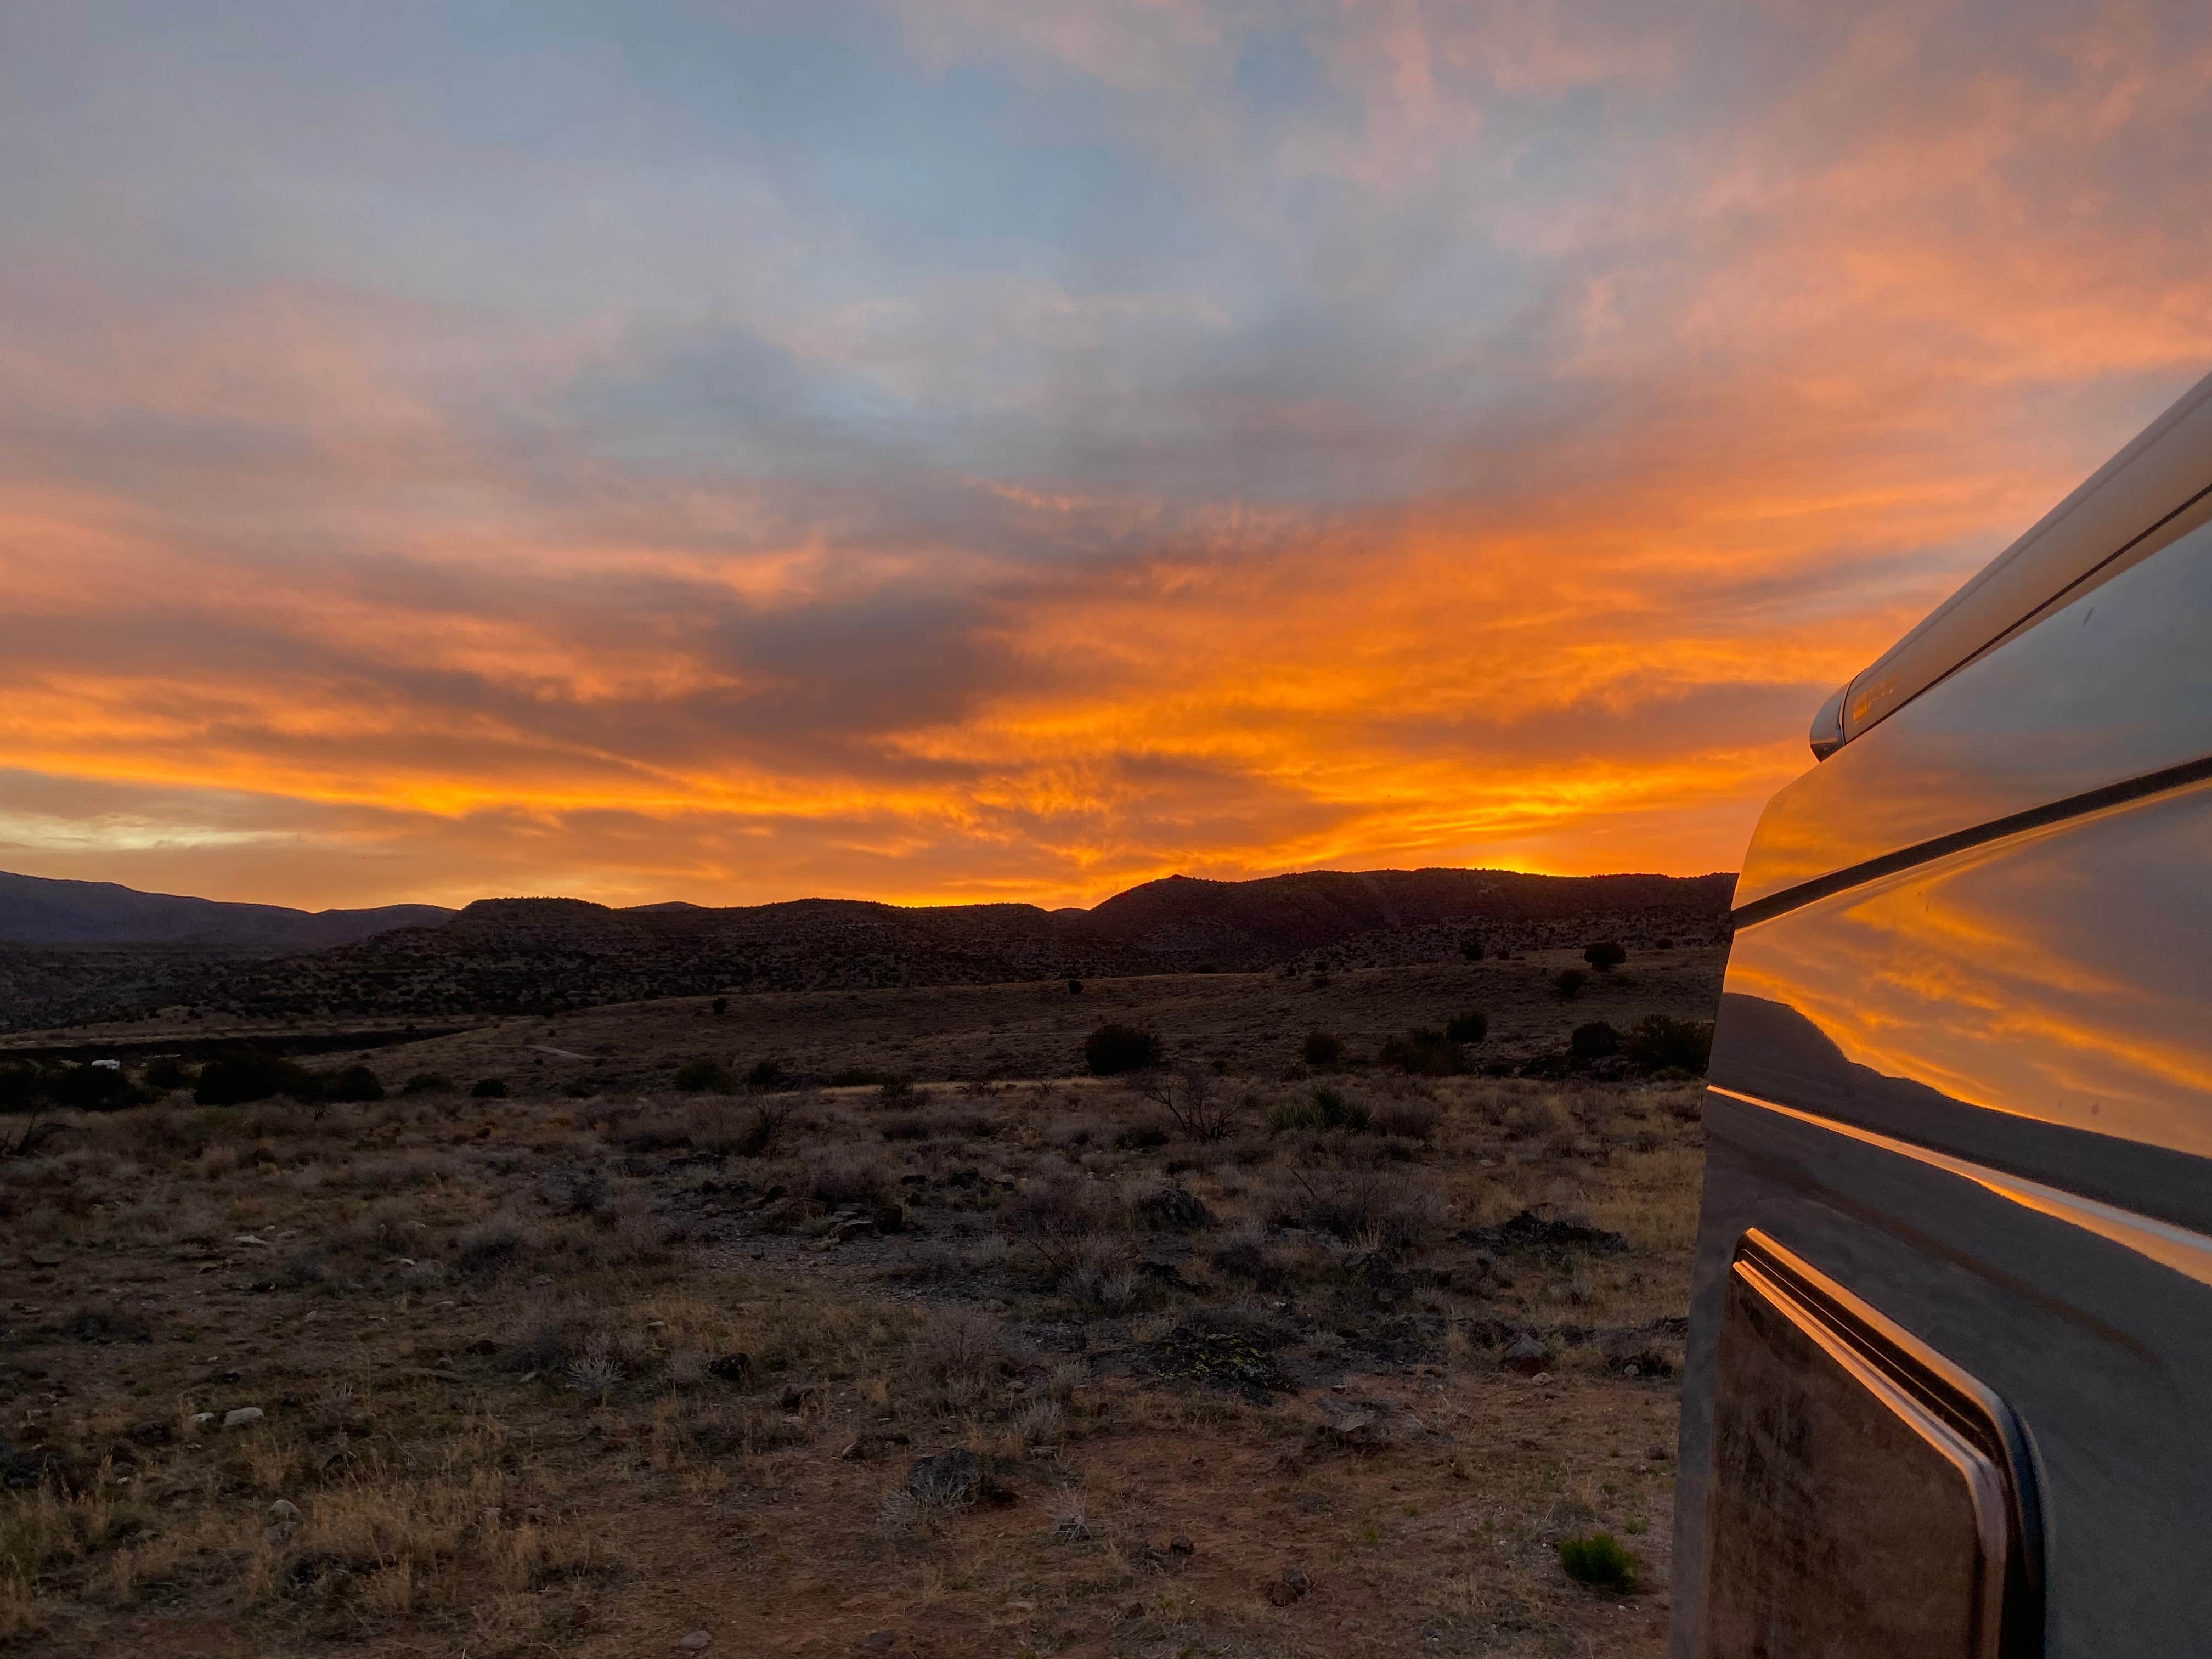
[{"label": "cloudy sunset sky with glowing orange and grey-blue clouds", "polygon": [[2201,4],[0,0],[0,867],[1734,869],[2208,155]]}]

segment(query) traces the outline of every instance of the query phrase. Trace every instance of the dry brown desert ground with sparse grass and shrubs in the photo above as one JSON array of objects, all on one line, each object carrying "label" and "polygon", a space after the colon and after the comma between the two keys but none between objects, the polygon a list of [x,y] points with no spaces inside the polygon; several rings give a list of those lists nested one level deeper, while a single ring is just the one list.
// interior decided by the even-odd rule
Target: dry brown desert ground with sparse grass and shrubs
[{"label": "dry brown desert ground with sparse grass and shrubs", "polygon": [[[372,1053],[509,1099],[71,1119],[0,1159],[0,1644],[1657,1655],[1699,1084],[1294,1060],[1710,1015],[1690,951],[1551,971],[639,1004]],[[1137,1015],[1197,1064],[606,1084],[1064,1071]],[[1562,1571],[1590,1533],[1635,1588]]]}]

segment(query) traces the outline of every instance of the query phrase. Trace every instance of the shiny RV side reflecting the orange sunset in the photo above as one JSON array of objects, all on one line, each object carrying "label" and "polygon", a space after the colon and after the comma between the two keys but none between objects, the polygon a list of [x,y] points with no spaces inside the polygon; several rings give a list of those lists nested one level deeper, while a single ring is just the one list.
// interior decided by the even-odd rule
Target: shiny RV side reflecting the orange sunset
[{"label": "shiny RV side reflecting the orange sunset", "polygon": [[2183,1652],[2212,380],[1814,723],[1736,889],[1674,1655]]}]

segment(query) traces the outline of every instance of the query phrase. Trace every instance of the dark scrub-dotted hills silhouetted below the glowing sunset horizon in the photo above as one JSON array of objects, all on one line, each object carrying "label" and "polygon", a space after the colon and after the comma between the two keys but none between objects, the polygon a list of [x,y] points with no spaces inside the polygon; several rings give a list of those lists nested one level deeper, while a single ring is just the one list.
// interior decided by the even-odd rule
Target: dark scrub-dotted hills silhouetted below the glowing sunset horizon
[{"label": "dark scrub-dotted hills silhouetted below the glowing sunset horizon", "polygon": [[[1438,962],[1469,938],[1491,953],[1593,938],[1708,942],[1728,936],[1732,891],[1732,876],[1378,869],[1248,883],[1172,876],[1091,911],[905,909],[843,898],[608,909],[575,898],[487,898],[440,925],[378,931],[327,951],[219,962],[170,956],[135,978],[111,962],[97,980],[66,982],[53,967],[64,953],[15,953],[11,971],[0,951],[0,1022],[24,1029],[153,1009],[243,1020],[442,1020],[666,995]],[[24,1002],[11,982],[42,991]]]}]

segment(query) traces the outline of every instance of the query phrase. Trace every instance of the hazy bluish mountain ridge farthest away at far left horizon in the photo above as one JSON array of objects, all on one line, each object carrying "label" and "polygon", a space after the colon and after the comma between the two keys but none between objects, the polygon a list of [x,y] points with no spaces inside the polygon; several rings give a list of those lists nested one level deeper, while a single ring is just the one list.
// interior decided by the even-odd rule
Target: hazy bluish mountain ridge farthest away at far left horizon
[{"label": "hazy bluish mountain ridge farthest away at far left horizon", "polygon": [[303,911],[142,894],[111,880],[49,880],[0,872],[0,945],[246,945],[323,951],[394,927],[442,922],[438,905]]}]

